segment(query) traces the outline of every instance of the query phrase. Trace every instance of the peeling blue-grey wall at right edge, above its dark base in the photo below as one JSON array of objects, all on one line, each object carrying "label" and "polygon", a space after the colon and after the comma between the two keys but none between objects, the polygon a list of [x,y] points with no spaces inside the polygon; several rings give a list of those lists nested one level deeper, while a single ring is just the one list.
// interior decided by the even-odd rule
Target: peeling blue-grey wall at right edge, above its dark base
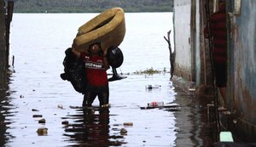
[{"label": "peeling blue-grey wall at right edge, above its dark base", "polygon": [[230,105],[256,124],[256,1],[242,1],[241,14],[230,2]]}]

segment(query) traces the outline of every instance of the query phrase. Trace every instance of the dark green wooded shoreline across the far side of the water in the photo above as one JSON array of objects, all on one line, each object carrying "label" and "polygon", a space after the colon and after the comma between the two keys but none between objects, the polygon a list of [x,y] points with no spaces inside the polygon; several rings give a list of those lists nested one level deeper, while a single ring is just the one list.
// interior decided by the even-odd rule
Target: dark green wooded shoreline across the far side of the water
[{"label": "dark green wooded shoreline across the far side of the water", "polygon": [[173,0],[16,0],[15,13],[102,13],[113,7],[129,13],[173,12]]}]

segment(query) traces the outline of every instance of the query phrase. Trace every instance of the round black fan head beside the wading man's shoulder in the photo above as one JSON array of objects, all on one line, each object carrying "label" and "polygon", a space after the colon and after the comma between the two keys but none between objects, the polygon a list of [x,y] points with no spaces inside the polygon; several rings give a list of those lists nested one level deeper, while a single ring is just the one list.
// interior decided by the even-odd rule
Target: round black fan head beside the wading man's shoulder
[{"label": "round black fan head beside the wading man's shoulder", "polygon": [[120,48],[110,47],[108,48],[107,59],[109,65],[113,68],[119,68],[119,66],[123,64],[124,55]]}]

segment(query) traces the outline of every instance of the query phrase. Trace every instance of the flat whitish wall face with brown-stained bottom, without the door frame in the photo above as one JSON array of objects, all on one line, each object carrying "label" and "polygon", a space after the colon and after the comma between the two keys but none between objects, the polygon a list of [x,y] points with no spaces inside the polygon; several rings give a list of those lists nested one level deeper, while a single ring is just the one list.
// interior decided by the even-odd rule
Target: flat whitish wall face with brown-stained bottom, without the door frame
[{"label": "flat whitish wall face with brown-stained bottom, without the door frame", "polygon": [[176,49],[174,74],[191,81],[191,0],[174,0],[173,4],[174,48]]}]

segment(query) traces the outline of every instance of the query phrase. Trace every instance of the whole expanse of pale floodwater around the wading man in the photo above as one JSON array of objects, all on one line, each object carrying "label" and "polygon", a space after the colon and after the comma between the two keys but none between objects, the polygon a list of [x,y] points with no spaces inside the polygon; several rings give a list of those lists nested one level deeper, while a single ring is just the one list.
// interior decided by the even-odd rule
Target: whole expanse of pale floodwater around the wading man
[{"label": "whole expanse of pale floodwater around the wading man", "polygon": [[[2,146],[208,146],[212,143],[203,102],[173,87],[169,73],[137,75],[149,68],[168,71],[164,39],[172,13],[125,14],[119,46],[125,60],[110,82],[109,109],[81,109],[83,95],[62,81],[64,51],[80,25],[96,14],[14,14],[9,83],[1,88]],[[172,43],[173,44],[173,43]],[[108,71],[111,73],[111,71]],[[148,89],[148,85],[157,88]],[[176,105],[141,109],[149,102]],[[40,123],[44,121],[44,123]],[[125,125],[128,123],[128,125]],[[42,132],[38,129],[44,129]],[[209,130],[207,128],[207,130]]]}]

